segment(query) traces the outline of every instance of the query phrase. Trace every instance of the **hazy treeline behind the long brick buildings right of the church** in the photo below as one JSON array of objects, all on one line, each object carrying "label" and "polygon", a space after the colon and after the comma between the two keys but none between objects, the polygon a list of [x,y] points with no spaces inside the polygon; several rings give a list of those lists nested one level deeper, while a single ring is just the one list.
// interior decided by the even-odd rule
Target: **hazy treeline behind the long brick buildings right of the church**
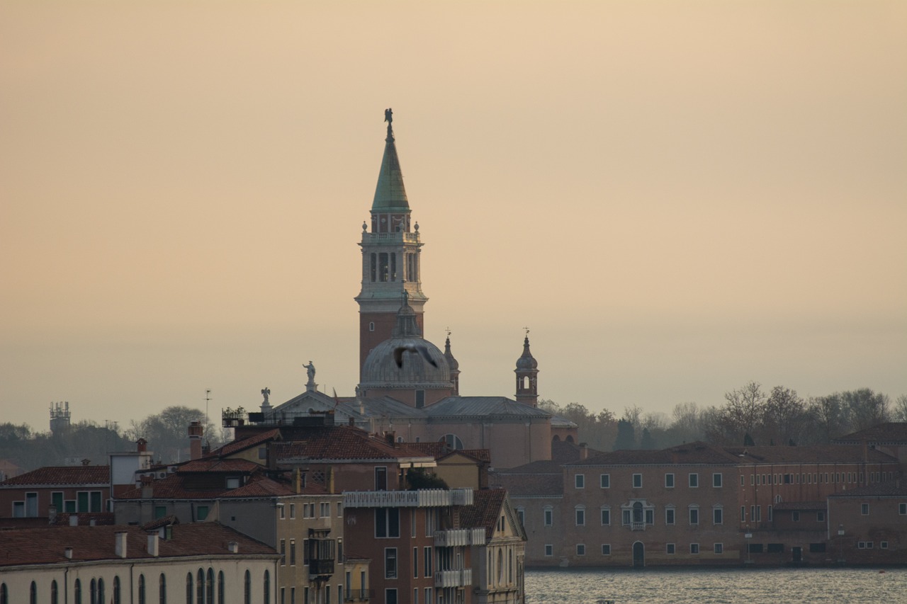
[{"label": "hazy treeline behind the long brick buildings right of the church", "polygon": [[580,442],[598,451],[663,449],[706,441],[717,445],[821,444],[883,422],[907,422],[907,395],[892,404],[869,388],[805,399],[795,390],[766,390],[750,382],[725,394],[720,406],[675,405],[671,414],[625,407],[618,417],[608,409],[591,413],[579,403],[539,406],[579,426]]}]

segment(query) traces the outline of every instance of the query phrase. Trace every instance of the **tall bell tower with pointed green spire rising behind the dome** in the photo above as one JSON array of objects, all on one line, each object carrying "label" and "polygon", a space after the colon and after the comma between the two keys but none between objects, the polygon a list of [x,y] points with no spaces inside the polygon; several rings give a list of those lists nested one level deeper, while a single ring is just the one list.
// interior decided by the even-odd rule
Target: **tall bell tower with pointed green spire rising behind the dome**
[{"label": "tall bell tower with pointed green spire rising behind the dome", "polygon": [[391,336],[404,292],[424,333],[423,307],[428,300],[419,278],[422,243],[419,223],[410,224],[409,201],[394,142],[394,115],[385,110],[387,137],[381,160],[371,225],[362,223],[362,289],[359,304],[359,379],[368,353]]}]

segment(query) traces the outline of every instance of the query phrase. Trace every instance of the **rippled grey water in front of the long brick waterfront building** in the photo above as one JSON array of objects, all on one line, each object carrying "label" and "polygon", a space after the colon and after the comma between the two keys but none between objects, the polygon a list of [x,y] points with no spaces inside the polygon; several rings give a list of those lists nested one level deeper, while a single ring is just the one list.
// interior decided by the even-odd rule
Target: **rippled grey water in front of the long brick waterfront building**
[{"label": "rippled grey water in front of the long brick waterfront building", "polygon": [[526,602],[907,604],[907,570],[526,570]]}]

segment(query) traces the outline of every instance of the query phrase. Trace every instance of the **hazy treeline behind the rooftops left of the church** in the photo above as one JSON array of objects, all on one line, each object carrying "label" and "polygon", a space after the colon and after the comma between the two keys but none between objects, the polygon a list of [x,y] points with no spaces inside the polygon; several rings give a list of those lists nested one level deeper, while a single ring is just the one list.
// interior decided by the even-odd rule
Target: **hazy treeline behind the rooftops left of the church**
[{"label": "hazy treeline behind the rooftops left of the church", "polygon": [[[189,424],[205,422],[205,412],[185,406],[171,406],[160,414],[132,420],[125,429],[113,423],[104,426],[91,421],[70,424],[55,433],[34,432],[28,424],[0,424],[0,459],[25,471],[47,465],[73,465],[87,459],[92,465],[109,463],[108,453],[134,451],[139,438],[148,441],[154,460],[163,463],[185,461],[189,451]],[[203,443],[212,448],[229,441],[213,423],[207,423]]]}]

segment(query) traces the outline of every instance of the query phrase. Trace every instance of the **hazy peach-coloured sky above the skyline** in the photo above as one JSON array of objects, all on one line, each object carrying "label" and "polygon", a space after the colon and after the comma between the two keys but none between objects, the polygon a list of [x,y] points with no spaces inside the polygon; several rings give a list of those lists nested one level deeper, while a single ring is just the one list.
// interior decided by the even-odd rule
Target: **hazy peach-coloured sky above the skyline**
[{"label": "hazy peach-coloured sky above the skyline", "polygon": [[[353,395],[384,110],[463,395],[907,394],[907,3],[0,0],[0,423]],[[206,390],[210,389],[210,402]]]}]

